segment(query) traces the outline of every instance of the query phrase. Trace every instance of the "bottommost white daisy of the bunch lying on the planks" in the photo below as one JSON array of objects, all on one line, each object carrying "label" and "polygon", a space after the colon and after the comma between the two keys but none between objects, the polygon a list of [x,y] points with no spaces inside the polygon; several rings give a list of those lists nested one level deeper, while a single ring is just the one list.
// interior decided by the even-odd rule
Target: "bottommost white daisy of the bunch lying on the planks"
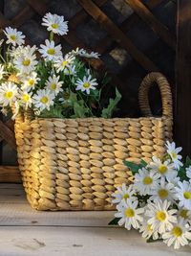
[{"label": "bottommost white daisy of the bunch lying on the planks", "polygon": [[191,240],[189,225],[180,220],[168,232],[162,234],[162,239],[168,246],[174,245],[175,249],[179,249],[180,246],[188,244],[188,240]]}]

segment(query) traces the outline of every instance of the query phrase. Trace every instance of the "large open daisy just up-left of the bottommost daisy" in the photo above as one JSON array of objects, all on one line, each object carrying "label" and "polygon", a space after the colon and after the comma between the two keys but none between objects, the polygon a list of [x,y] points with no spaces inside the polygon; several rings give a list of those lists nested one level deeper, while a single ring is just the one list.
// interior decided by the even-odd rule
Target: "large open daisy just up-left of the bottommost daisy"
[{"label": "large open daisy just up-left of the bottommost daisy", "polygon": [[177,218],[174,216],[177,213],[177,210],[169,210],[171,202],[164,200],[158,200],[155,203],[149,202],[145,216],[149,218],[148,223],[152,225],[154,231],[162,234],[166,231],[169,231],[173,224],[177,221]]}]

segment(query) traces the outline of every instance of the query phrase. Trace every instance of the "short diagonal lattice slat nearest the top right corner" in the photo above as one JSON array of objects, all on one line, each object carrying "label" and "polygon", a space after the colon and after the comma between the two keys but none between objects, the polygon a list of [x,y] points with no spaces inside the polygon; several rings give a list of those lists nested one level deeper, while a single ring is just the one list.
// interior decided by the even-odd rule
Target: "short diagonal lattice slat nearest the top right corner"
[{"label": "short diagonal lattice slat nearest the top right corner", "polygon": [[135,11],[138,16],[149,27],[157,33],[160,38],[166,42],[174,50],[176,49],[176,37],[170,33],[170,31],[153,15],[149,9],[146,8],[139,0],[125,0],[125,2]]}]

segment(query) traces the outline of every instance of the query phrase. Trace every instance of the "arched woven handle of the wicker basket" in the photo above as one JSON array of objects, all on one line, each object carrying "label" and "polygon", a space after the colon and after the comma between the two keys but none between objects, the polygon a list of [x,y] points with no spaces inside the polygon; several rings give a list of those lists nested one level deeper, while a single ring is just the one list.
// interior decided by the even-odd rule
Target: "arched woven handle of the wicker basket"
[{"label": "arched woven handle of the wicker basket", "polygon": [[159,72],[149,73],[141,82],[138,90],[138,102],[144,116],[153,116],[149,105],[148,92],[154,82],[159,85],[162,102],[162,116],[173,118],[171,88],[166,78]]}]

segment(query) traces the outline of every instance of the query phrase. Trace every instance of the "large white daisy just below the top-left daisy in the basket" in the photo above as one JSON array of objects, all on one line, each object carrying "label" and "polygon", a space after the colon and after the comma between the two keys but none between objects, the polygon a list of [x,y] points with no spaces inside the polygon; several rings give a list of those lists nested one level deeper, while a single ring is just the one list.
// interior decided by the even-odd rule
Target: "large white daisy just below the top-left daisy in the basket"
[{"label": "large white daisy just below the top-left daisy in the basket", "polygon": [[20,48],[20,54],[13,59],[15,68],[18,69],[19,74],[30,74],[37,65],[35,46]]}]

